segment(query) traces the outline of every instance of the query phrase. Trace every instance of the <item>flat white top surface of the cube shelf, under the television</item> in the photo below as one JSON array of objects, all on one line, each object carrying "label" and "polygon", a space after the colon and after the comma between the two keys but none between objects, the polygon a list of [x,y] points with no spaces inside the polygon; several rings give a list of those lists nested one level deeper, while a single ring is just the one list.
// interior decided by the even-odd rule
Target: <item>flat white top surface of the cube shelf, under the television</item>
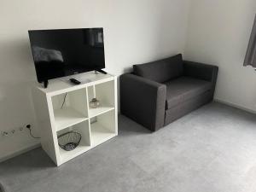
[{"label": "flat white top surface of the cube shelf, under the television", "polygon": [[[102,74],[95,72],[80,73],[73,76],[67,76],[60,79],[49,80],[48,87],[45,89],[42,85],[38,86],[38,89],[45,94],[58,95],[62,92],[78,90],[86,86],[90,86],[97,83],[103,83],[108,80],[112,80],[115,76],[112,74]],[[71,84],[69,79],[78,79],[81,84]]]}]

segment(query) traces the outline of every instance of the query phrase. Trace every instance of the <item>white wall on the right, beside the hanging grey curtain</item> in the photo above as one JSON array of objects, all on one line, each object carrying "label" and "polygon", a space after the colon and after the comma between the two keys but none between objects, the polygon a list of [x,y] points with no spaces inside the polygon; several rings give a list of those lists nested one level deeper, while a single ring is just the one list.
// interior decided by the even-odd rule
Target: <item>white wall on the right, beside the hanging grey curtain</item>
[{"label": "white wall on the right, beside the hanging grey curtain", "polygon": [[256,72],[242,67],[255,0],[192,0],[185,58],[218,65],[215,98],[256,112]]}]

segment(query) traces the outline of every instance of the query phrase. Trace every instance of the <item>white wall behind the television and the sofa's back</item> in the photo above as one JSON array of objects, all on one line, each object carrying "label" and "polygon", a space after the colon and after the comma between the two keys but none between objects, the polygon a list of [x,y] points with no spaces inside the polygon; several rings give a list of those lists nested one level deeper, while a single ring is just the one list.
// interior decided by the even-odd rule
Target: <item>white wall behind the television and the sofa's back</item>
[{"label": "white wall behind the television and the sofa's back", "polygon": [[[27,30],[103,26],[107,71],[120,74],[134,63],[183,52],[188,14],[189,0],[2,0],[0,131],[34,122]],[[1,137],[0,159],[35,143],[27,131]]]}]

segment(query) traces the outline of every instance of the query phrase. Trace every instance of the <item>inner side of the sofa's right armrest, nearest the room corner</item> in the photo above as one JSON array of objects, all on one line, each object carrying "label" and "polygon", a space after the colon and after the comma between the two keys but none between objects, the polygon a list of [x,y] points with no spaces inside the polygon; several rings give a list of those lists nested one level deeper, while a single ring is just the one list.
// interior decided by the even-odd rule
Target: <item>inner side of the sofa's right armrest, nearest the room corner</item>
[{"label": "inner side of the sofa's right armrest, nearest the room corner", "polygon": [[218,67],[192,61],[183,61],[184,75],[216,84]]}]

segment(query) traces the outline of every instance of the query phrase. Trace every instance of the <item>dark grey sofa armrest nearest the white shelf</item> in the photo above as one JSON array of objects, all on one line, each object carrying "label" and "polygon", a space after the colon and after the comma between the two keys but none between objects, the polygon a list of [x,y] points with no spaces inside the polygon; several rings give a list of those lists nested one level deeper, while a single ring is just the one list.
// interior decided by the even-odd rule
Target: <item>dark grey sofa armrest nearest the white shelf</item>
[{"label": "dark grey sofa armrest nearest the white shelf", "polygon": [[151,131],[165,123],[166,85],[127,73],[120,76],[120,109]]}]

